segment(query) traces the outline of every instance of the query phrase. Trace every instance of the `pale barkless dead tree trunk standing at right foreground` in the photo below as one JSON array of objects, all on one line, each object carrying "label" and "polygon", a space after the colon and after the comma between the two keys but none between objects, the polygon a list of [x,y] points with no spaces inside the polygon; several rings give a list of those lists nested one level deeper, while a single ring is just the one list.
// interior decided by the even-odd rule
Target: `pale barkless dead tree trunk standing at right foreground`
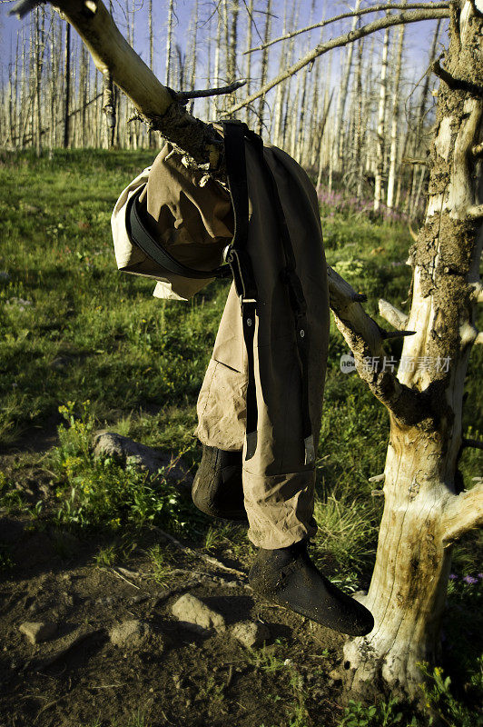
[{"label": "pale barkless dead tree trunk standing at right foreground", "polygon": [[[399,328],[417,332],[405,340],[402,352],[402,362],[414,365],[401,364],[398,379],[404,395],[419,403],[412,413],[409,404],[401,412],[400,399],[382,397],[390,412],[385,508],[364,600],[376,626],[368,636],[346,643],[342,670],[346,686],[366,695],[381,684],[417,694],[418,663],[439,658],[451,543],[483,523],[483,486],[460,494],[455,486],[464,445],[463,383],[478,336],[474,318],[481,291],[482,30],[483,17],[463,0],[451,20],[445,69],[439,72],[429,205],[412,255],[409,319],[395,309],[386,314],[399,320]],[[387,311],[384,304],[381,310]],[[350,325],[340,328],[357,350],[353,326],[351,331]],[[371,383],[383,382],[383,373],[370,375]]]}]

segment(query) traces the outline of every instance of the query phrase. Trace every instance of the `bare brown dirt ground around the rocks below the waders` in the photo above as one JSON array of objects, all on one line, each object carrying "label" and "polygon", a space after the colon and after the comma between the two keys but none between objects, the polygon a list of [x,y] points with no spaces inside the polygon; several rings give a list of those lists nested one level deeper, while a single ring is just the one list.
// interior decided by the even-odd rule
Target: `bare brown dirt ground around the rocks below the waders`
[{"label": "bare brown dirt ground around the rocks below the waders", "polygon": [[[5,454],[0,467],[11,467],[15,456]],[[50,496],[35,456],[17,484],[33,508]],[[132,544],[122,563],[103,565],[95,553],[105,543],[93,536],[25,514],[0,517],[0,540],[12,563],[0,572],[1,727],[330,727],[340,721],[340,682],[330,672],[344,636],[255,602],[244,576],[248,562],[212,551],[232,573],[152,531]],[[173,564],[161,582],[147,554],[156,543]],[[226,628],[202,631],[175,618],[173,603],[183,593],[222,613]],[[247,620],[268,626],[261,646],[247,648],[233,637],[233,624]],[[133,621],[145,624],[147,635],[113,643],[113,628]],[[31,643],[20,631],[25,622],[52,622],[56,631]]]}]

